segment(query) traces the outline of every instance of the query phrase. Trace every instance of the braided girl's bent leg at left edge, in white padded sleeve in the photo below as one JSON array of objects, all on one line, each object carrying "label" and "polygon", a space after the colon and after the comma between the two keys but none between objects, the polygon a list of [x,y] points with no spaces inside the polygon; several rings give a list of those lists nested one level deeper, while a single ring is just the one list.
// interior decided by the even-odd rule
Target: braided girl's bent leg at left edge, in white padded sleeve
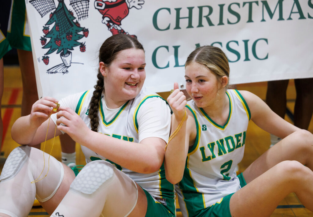
[{"label": "braided girl's bent leg at left edge, in white padded sleeve", "polygon": [[[32,208],[35,196],[39,201],[51,198],[62,182],[64,171],[62,164],[45,153],[44,177],[34,181],[44,167],[43,151],[29,146],[15,148],[6,160],[0,175],[0,213],[11,216],[27,216]],[[40,179],[39,178],[39,179]]]}]

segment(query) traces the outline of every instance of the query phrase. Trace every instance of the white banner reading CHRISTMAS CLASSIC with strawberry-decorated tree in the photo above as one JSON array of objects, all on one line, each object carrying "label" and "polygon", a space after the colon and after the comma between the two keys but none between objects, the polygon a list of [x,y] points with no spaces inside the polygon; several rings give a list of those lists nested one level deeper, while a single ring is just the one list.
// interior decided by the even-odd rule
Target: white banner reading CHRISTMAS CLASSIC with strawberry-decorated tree
[{"label": "white banner reading CHRISTMAS CLASSIC with strawberry-decorated tree", "polygon": [[146,50],[145,86],[184,89],[197,46],[220,47],[230,83],[313,77],[313,0],[26,0],[39,96],[62,98],[96,83],[98,50],[112,34]]}]

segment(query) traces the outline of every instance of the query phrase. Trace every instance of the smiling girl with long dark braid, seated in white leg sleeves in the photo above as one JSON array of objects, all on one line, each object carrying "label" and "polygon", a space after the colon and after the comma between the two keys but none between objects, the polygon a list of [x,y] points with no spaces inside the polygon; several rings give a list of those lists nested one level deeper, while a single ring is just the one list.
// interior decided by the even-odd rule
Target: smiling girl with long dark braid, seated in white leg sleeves
[{"label": "smiling girl with long dark braid, seated in white leg sleeves", "polygon": [[[113,35],[100,48],[94,90],[39,99],[14,123],[13,139],[28,146],[15,148],[3,168],[1,216],[27,216],[35,196],[51,216],[175,216],[163,167],[171,113],[143,87],[145,66],[138,40]],[[55,127],[81,144],[87,164],[76,177],[48,154],[42,171],[43,152],[30,147],[47,128],[53,138]]]}]

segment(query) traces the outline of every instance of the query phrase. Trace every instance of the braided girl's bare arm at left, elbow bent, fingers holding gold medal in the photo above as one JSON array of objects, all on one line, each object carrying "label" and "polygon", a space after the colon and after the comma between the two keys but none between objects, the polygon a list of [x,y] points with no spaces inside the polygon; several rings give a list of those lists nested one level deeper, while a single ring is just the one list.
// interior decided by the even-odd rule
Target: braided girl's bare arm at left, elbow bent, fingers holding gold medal
[{"label": "braided girl's bare arm at left, elbow bent, fingers holding gold medal", "polygon": [[[11,129],[12,139],[20,145],[36,145],[45,140],[48,122],[53,108],[56,108],[58,100],[51,97],[44,97],[36,101],[31,113],[18,118]],[[52,112],[53,114],[54,112]],[[49,123],[47,140],[54,136],[55,124]],[[61,132],[57,132],[60,135]]]}]

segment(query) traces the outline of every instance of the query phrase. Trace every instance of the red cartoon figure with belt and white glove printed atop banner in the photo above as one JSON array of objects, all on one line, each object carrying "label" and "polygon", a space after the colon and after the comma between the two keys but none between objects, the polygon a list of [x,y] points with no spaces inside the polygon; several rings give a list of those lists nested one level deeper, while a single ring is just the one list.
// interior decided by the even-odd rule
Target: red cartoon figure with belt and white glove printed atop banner
[{"label": "red cartoon figure with belt and white glove printed atop banner", "polygon": [[[144,3],[143,0],[95,0],[95,8],[103,15],[102,23],[113,35],[128,34],[121,28],[122,19],[128,15],[130,8],[141,9]],[[137,38],[136,35],[130,36]]]}]

